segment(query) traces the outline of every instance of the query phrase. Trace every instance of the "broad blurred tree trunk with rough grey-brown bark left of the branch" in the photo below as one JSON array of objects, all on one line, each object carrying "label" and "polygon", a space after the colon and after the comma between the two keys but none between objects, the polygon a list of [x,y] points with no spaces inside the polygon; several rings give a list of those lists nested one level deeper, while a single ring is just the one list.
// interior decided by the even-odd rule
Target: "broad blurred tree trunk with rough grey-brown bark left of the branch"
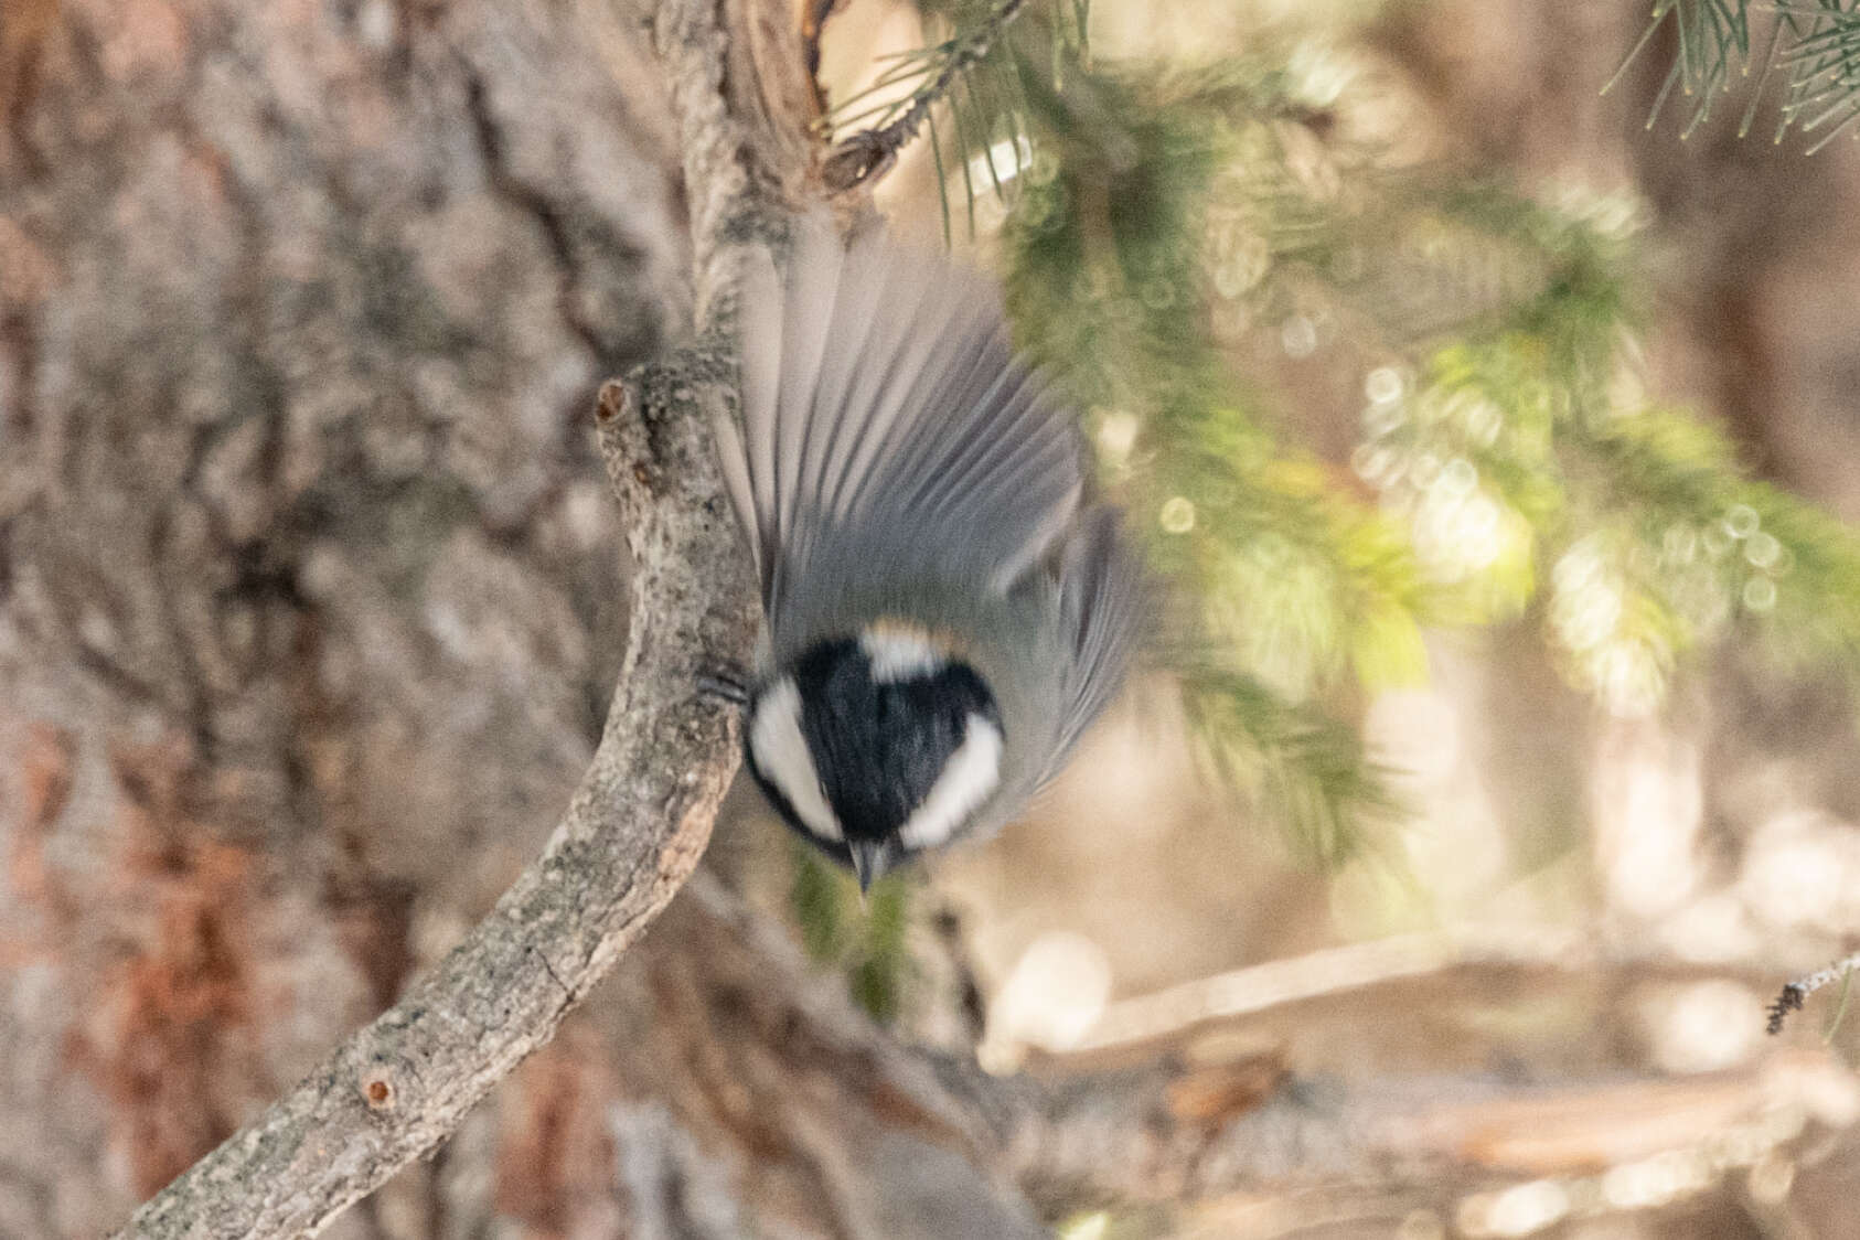
[{"label": "broad blurred tree trunk with rough grey-brown bark left of the branch", "polygon": [[593,392],[688,312],[662,99],[606,2],[0,15],[0,1234],[121,1221],[539,851]]}]

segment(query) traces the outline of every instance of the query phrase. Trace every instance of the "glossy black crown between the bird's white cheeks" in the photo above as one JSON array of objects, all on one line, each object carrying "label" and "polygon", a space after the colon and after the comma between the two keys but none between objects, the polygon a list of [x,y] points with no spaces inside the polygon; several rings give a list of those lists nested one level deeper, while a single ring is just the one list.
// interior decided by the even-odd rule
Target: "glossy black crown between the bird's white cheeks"
[{"label": "glossy black crown between the bird's white cheeks", "polygon": [[790,675],[802,736],[850,840],[898,833],[962,747],[969,716],[1001,727],[993,693],[967,664],[874,680],[865,649],[843,638],[809,649]]}]

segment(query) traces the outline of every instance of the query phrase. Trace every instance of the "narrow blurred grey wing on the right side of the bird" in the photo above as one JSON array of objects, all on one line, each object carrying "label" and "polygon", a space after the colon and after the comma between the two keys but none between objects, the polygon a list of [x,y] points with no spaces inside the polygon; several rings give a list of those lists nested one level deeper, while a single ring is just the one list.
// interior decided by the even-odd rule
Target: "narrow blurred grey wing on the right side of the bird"
[{"label": "narrow blurred grey wing on the right side of the bird", "polygon": [[1110,705],[1148,623],[1142,561],[1123,539],[1116,509],[1094,508],[1060,554],[1060,625],[1071,662],[1042,785],[1058,775],[1079,738]]}]

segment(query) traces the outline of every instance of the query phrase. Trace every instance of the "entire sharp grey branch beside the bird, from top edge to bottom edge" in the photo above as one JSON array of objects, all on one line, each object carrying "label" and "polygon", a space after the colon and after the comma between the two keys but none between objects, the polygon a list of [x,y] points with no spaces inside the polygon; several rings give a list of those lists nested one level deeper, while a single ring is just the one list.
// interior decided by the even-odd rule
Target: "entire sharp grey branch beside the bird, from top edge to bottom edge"
[{"label": "entire sharp grey branch beside the bird, from top edge to bottom edge", "polygon": [[[724,11],[744,37],[725,32]],[[798,184],[807,145],[789,119],[804,87],[789,82],[800,54],[779,4],[662,0],[655,39],[684,151],[701,344],[601,392],[601,452],[634,573],[593,762],[543,855],[432,976],[117,1236],[316,1234],[547,1043],[703,853],[737,770],[738,719],[699,692],[699,675],[744,658],[757,619],[709,435],[735,383],[718,310],[740,249],[779,231],[770,203]]]}]

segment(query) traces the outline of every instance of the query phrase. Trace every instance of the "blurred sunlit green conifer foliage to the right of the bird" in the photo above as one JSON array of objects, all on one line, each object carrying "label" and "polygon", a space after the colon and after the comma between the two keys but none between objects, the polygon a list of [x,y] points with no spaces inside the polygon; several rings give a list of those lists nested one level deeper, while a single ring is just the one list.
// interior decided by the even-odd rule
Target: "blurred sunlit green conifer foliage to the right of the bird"
[{"label": "blurred sunlit green conifer foliage to the right of the bird", "polygon": [[[1631,203],[1395,165],[1345,136],[1321,41],[1131,63],[1092,48],[1088,0],[921,9],[937,41],[824,128],[921,119],[945,234],[1003,218],[1017,338],[1090,411],[1172,582],[1162,656],[1211,766],[1302,853],[1337,863],[1399,816],[1352,708],[1427,675],[1428,627],[1525,619],[1622,714],[1732,634],[1860,679],[1860,537],[1646,390]],[[1786,119],[1828,123],[1806,100],[1854,106],[1860,26],[1780,13],[1754,59],[1787,74]],[[1665,20],[1704,110],[1747,6]],[[1261,323],[1308,353],[1317,316],[1378,359],[1348,468],[1291,442],[1235,359]]]}]

